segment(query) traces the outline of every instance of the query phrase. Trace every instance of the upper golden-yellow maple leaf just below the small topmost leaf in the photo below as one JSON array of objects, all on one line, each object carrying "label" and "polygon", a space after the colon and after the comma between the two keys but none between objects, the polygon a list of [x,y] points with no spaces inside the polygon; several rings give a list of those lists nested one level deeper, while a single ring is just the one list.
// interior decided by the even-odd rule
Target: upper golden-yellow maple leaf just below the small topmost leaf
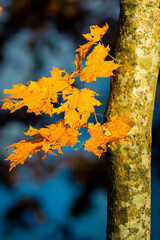
[{"label": "upper golden-yellow maple leaf just below the small topmost leaf", "polygon": [[99,43],[88,55],[86,67],[81,71],[80,80],[90,83],[98,77],[109,77],[114,75],[113,71],[119,67],[113,60],[105,61],[110,48]]}]

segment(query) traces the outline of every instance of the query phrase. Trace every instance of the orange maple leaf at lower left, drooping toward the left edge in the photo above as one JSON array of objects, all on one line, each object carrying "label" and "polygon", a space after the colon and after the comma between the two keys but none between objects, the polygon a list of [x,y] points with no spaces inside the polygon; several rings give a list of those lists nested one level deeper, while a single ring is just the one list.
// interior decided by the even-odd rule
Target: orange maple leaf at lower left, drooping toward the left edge
[{"label": "orange maple leaf at lower left, drooping toward the left edge", "polygon": [[30,126],[29,130],[24,134],[32,136],[34,139],[22,140],[7,147],[7,149],[10,147],[15,148],[14,154],[10,154],[5,159],[11,161],[10,171],[17,164],[23,164],[27,157],[31,157],[32,154],[38,151],[46,153],[43,159],[49,153],[53,155],[63,153],[62,148],[75,145],[79,142],[77,137],[80,135],[76,129],[66,126],[62,120],[39,130]]}]

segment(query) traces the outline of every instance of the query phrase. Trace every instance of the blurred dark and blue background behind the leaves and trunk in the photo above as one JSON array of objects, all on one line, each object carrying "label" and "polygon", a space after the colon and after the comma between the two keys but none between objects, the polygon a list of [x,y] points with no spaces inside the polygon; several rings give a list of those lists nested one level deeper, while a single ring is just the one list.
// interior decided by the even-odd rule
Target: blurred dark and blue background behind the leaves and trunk
[{"label": "blurred dark and blue background behind the leaves and trunk", "polygon": [[[119,17],[119,0],[1,0],[0,94],[12,84],[27,84],[49,76],[52,66],[74,70],[74,50],[84,43],[90,25],[109,24],[103,38],[113,55]],[[109,79],[91,88],[100,94],[105,110]],[[81,87],[79,83],[76,83]],[[89,85],[88,85],[89,86]],[[2,103],[1,103],[2,105]],[[160,87],[157,86],[153,120],[152,239],[159,240],[160,224]],[[42,127],[57,121],[49,116],[0,110],[0,239],[2,240],[101,240],[106,228],[106,159],[66,148],[62,156],[42,153],[9,173],[5,148],[24,139],[28,126]],[[91,118],[92,121],[94,121]],[[102,117],[98,119],[103,121]],[[84,138],[86,135],[84,135]],[[84,140],[83,138],[80,140]],[[156,219],[156,220],[155,220]]]}]

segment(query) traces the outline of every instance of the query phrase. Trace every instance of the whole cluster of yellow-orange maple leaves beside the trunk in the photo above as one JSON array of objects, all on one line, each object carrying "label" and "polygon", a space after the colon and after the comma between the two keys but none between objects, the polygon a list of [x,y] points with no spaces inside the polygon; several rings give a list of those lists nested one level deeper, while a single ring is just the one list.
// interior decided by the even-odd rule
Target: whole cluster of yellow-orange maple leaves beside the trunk
[{"label": "whole cluster of yellow-orange maple leaves beside the trunk", "polygon": [[[14,153],[6,159],[11,161],[10,170],[19,163],[23,164],[27,157],[31,157],[38,151],[46,153],[43,158],[49,153],[54,155],[63,153],[64,146],[73,146],[79,142],[79,129],[82,127],[86,127],[90,134],[90,138],[82,146],[98,157],[107,151],[108,142],[127,136],[133,126],[128,118],[115,116],[110,122],[101,125],[97,121],[94,108],[101,105],[101,102],[95,98],[98,94],[88,88],[78,89],[73,86],[77,76],[80,77],[81,82],[90,83],[99,77],[114,75],[113,70],[119,67],[114,60],[105,60],[110,49],[109,46],[103,45],[101,38],[107,29],[107,24],[102,28],[97,25],[91,26],[90,33],[83,34],[88,42],[75,51],[77,54],[73,63],[76,70],[71,74],[53,67],[51,77],[42,77],[37,82],[30,81],[28,86],[17,84],[13,85],[12,89],[4,90],[9,97],[3,100],[2,109],[10,109],[14,112],[27,106],[27,112],[34,112],[35,115],[45,113],[53,116],[55,113],[64,113],[64,120],[59,120],[45,128],[38,130],[30,126],[25,134],[33,139],[23,140],[9,146],[15,148]],[[94,46],[93,50],[86,57],[91,46]],[[82,58],[86,58],[84,68]],[[58,102],[58,95],[62,96],[63,103],[55,108],[54,103]],[[96,124],[88,123],[91,114],[95,115]]]}]

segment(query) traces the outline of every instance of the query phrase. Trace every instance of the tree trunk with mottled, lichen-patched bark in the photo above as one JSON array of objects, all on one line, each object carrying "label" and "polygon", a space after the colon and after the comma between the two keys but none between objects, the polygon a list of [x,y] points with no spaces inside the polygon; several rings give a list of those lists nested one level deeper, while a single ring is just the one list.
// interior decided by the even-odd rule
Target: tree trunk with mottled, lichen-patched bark
[{"label": "tree trunk with mottled, lichen-patched bark", "polygon": [[105,115],[130,117],[128,142],[109,145],[107,240],[150,239],[152,116],[158,79],[159,0],[122,0]]}]

